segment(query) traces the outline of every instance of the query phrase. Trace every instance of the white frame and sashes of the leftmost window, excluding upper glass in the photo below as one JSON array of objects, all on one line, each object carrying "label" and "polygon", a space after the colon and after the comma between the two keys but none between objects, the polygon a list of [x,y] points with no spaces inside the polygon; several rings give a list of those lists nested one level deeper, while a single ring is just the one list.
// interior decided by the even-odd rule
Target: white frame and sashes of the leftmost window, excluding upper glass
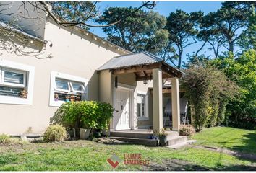
[{"label": "white frame and sashes of the leftmost window, excluding upper glass", "polygon": [[[27,90],[27,98],[20,98],[20,97],[12,97],[12,96],[5,96],[0,95],[0,104],[14,104],[14,105],[32,105],[33,104],[33,89],[34,89],[34,79],[35,79],[35,67],[29,66],[23,63],[16,63],[13,61],[7,61],[4,59],[0,59],[0,85],[1,86],[9,86],[9,87],[17,87],[17,88],[25,88]],[[3,68],[9,68],[12,71],[17,71],[18,73],[23,72],[25,73],[25,80],[24,86],[21,84],[12,84],[9,82],[3,82]]]}]

